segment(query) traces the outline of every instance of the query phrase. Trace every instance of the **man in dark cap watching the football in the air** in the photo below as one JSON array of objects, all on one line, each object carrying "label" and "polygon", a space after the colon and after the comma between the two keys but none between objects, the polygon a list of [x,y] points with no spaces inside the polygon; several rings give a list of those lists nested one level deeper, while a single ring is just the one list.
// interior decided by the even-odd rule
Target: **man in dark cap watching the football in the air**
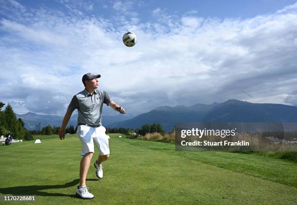
[{"label": "man in dark cap watching the football in the air", "polygon": [[101,163],[109,157],[109,136],[105,134],[105,128],[101,124],[103,103],[111,106],[118,112],[124,114],[125,109],[110,99],[108,94],[97,89],[99,87],[99,74],[86,73],[82,76],[82,83],[85,89],[74,95],[63,119],[61,130],[59,132],[60,139],[65,139],[65,128],[71,117],[72,112],[78,109],[78,128],[77,134],[82,142],[82,160],[80,165],[80,185],[76,190],[76,195],[83,199],[91,199],[93,194],[89,193],[85,184],[87,172],[91,159],[94,154],[94,143],[98,147],[98,160],[94,163],[97,169],[98,178],[103,177]]}]

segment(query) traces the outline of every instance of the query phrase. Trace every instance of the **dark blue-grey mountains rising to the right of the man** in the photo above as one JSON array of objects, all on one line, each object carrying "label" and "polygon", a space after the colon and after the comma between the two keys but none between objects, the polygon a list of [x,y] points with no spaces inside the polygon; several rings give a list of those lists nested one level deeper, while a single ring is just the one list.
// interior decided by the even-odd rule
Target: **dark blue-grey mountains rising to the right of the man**
[{"label": "dark blue-grey mountains rising to the right of the man", "polygon": [[143,124],[160,123],[168,132],[176,122],[297,122],[297,107],[239,100],[192,106],[161,106],[107,127],[139,128]]}]

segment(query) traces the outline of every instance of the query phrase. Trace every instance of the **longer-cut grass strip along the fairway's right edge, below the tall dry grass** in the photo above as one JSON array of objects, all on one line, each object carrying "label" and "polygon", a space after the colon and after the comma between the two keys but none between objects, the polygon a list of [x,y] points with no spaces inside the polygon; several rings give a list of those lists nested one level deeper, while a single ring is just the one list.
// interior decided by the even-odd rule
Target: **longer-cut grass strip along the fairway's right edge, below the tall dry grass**
[{"label": "longer-cut grass strip along the fairway's right edge, below the tall dry grass", "polygon": [[224,169],[260,177],[269,181],[297,187],[297,164],[291,161],[231,152],[175,151],[174,144],[123,139],[123,142],[151,150],[164,151],[194,161],[212,164]]}]

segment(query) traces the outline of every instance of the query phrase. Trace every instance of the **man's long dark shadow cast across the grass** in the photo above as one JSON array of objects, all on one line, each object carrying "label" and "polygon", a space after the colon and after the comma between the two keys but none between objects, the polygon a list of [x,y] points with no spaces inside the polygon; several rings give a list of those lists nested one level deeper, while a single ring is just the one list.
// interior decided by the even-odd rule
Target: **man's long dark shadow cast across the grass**
[{"label": "man's long dark shadow cast across the grass", "polygon": [[[87,179],[87,181],[98,181],[99,179]],[[19,187],[8,187],[0,188],[0,193],[8,195],[35,195],[35,196],[68,196],[76,198],[75,190],[74,194],[64,194],[63,190],[60,193],[49,193],[40,190],[49,190],[49,189],[63,189],[68,187],[73,187],[80,182],[80,179],[74,179],[71,182],[68,182],[64,185],[33,185],[33,186],[19,186]]]}]

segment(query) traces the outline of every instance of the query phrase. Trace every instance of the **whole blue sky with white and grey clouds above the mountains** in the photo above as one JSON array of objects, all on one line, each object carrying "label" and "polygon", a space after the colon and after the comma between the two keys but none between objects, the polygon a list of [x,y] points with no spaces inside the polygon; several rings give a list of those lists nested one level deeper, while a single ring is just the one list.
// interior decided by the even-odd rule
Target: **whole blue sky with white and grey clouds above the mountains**
[{"label": "whole blue sky with white and grey clouds above the mountains", "polygon": [[297,2],[0,0],[1,102],[64,115],[88,72],[131,117],[229,99],[295,105]]}]

